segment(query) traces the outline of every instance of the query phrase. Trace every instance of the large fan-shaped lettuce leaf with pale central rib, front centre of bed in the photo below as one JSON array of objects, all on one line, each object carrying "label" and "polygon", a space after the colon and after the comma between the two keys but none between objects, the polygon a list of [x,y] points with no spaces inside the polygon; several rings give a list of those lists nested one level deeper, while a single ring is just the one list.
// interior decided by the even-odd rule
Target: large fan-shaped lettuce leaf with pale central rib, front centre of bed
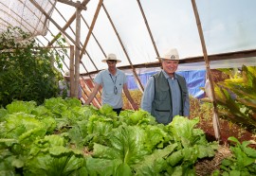
[{"label": "large fan-shaped lettuce leaf with pale central rib, front centre of bed", "polygon": [[137,126],[119,126],[107,136],[109,147],[94,146],[94,156],[119,159],[129,166],[139,162],[148,153],[144,147],[146,132]]}]

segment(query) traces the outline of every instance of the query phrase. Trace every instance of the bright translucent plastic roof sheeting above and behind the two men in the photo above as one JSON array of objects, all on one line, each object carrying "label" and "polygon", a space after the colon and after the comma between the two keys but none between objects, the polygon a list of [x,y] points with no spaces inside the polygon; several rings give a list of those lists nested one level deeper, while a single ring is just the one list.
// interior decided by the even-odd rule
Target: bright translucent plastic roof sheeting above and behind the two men
[{"label": "bright translucent plastic roof sheeting above and behind the two men", "polygon": [[[86,70],[95,71],[106,68],[107,65],[101,60],[104,58],[104,54],[108,53],[115,53],[118,56],[121,60],[118,66],[129,65],[130,62],[132,64],[157,62],[156,52],[162,55],[171,47],[178,49],[182,59],[203,56],[192,1],[140,0],[139,2],[147,22],[144,21],[137,1],[109,0],[103,2],[104,7],[101,7],[92,31],[93,34],[86,46],[88,55],[86,54],[82,58]],[[98,3],[99,1],[90,1],[86,6],[87,10],[82,10],[82,44],[88,34],[86,24],[91,25]],[[196,0],[195,3],[209,55],[255,49],[256,19],[252,17],[256,15],[256,11],[253,9],[256,7],[256,1]],[[56,7],[60,11],[66,11],[66,20],[76,10],[75,8],[67,10],[66,5],[61,3],[57,3]],[[63,21],[56,11],[52,18],[58,22]],[[156,51],[146,23],[152,32]],[[64,26],[64,24],[60,26]],[[75,31],[75,21],[71,26]],[[56,27],[52,26],[53,28]],[[53,33],[57,34],[58,31],[57,29]],[[67,29],[66,32],[75,37],[70,29]],[[95,62],[97,68],[90,59]],[[224,64],[229,63],[224,62]],[[186,68],[189,67],[186,66]],[[83,68],[81,68],[81,72],[84,72]]]}]

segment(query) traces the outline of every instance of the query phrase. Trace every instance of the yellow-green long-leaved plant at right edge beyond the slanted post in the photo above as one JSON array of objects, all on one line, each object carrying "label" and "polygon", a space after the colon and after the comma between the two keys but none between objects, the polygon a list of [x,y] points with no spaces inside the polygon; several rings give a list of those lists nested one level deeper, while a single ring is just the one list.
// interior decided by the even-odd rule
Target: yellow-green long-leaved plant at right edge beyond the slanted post
[{"label": "yellow-green long-leaved plant at right edge beyond the slanted post", "polygon": [[222,70],[229,79],[214,86],[221,117],[229,119],[248,131],[256,128],[256,67],[242,66],[242,70]]}]

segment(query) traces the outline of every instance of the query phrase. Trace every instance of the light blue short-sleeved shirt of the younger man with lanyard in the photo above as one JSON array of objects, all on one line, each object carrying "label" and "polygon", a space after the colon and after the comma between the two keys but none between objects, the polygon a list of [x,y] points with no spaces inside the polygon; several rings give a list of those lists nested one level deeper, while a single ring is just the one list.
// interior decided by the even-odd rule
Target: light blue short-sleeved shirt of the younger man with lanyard
[{"label": "light blue short-sleeved shirt of the younger man with lanyard", "polygon": [[[113,109],[122,108],[122,88],[127,81],[122,71],[117,69],[116,75],[112,75],[108,69],[102,70],[94,81],[102,86],[102,104],[109,104]],[[117,94],[114,91],[115,86],[117,87]]]}]

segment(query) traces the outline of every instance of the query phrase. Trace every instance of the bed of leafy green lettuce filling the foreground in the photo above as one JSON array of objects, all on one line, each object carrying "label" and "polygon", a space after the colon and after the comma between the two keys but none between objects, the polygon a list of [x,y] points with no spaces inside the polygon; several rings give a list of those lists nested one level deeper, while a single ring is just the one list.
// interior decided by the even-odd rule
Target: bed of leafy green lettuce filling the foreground
[{"label": "bed of leafy green lettuce filling the foreground", "polygon": [[82,106],[76,98],[13,101],[0,109],[0,175],[200,175],[220,146],[198,122],[175,116],[164,126],[142,110],[117,116],[110,106]]}]

